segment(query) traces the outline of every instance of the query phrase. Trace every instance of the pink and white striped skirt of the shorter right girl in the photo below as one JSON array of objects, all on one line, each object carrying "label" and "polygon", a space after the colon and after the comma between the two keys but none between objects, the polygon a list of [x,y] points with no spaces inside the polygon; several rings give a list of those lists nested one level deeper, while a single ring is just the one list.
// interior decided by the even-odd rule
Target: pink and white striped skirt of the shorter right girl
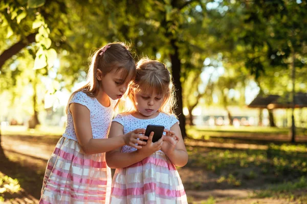
[{"label": "pink and white striped skirt of the shorter right girl", "polygon": [[163,152],[116,169],[110,203],[188,203],[176,167]]}]

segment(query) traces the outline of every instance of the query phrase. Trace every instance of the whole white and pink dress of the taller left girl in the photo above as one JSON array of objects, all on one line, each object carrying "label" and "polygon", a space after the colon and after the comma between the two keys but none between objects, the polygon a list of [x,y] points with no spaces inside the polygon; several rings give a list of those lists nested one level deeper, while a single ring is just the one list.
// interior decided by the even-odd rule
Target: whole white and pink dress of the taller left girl
[{"label": "whole white and pink dress of the taller left girl", "polygon": [[[116,101],[109,107],[96,98],[77,92],[69,104],[77,103],[90,110],[93,138],[107,138]],[[39,203],[108,203],[111,192],[111,169],[105,153],[86,155],[76,137],[73,117],[68,111],[67,127],[48,161]]]}]

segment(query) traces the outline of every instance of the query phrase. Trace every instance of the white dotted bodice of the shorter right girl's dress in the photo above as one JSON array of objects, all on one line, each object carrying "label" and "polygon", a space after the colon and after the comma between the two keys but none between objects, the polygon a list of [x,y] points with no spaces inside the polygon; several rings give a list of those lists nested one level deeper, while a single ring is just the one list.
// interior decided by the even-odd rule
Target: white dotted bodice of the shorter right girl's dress
[{"label": "white dotted bodice of the shorter right girl's dress", "polygon": [[[165,113],[159,113],[155,118],[151,119],[139,119],[132,115],[118,114],[113,121],[120,123],[124,126],[124,134],[134,131],[138,128],[146,129],[148,124],[163,125],[165,129],[170,130],[170,127],[179,120],[173,115],[167,115]],[[130,152],[137,150],[131,146],[123,146],[122,152]]]}]

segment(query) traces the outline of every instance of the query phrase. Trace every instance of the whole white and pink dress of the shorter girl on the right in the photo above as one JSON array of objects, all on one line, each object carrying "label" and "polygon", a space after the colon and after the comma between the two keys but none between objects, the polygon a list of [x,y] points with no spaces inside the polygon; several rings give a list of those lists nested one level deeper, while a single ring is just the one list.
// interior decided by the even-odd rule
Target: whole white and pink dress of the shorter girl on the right
[{"label": "whole white and pink dress of the shorter girl on the right", "polygon": [[[139,119],[132,115],[119,114],[113,120],[123,125],[124,134],[148,124],[163,125],[166,129],[179,122],[174,116],[159,113],[156,118]],[[122,152],[137,150],[123,146]],[[110,203],[188,203],[187,196],[176,167],[161,151],[156,151],[144,160],[116,169]]]}]

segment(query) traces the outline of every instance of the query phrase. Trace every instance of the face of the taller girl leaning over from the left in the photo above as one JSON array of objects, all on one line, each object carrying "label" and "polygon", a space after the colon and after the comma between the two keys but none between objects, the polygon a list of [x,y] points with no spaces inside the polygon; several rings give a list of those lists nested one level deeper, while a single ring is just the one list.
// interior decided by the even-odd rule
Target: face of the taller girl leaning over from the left
[{"label": "face of the taller girl leaning over from the left", "polygon": [[122,79],[122,71],[122,69],[114,69],[103,76],[101,71],[97,70],[97,74],[100,72],[99,77],[97,75],[97,79],[101,81],[102,90],[113,100],[121,98],[129,84],[128,80],[124,82],[124,79]]}]

